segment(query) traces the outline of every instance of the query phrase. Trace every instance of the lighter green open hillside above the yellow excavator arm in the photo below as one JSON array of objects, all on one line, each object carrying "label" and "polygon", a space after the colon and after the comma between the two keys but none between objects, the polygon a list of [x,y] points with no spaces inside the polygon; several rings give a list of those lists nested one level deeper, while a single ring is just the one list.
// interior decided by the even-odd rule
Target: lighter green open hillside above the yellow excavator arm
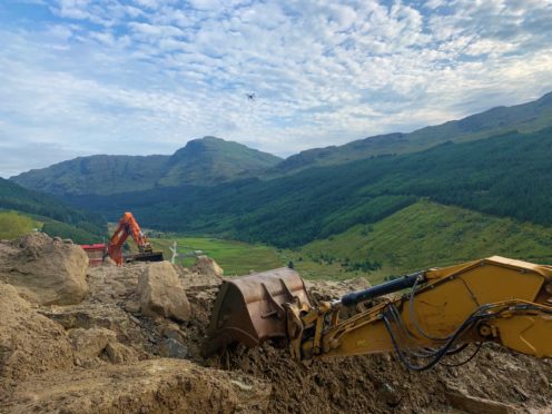
[{"label": "lighter green open hillside above the yellow excavator arm", "polygon": [[[551,227],[421,200],[372,225],[356,225],[307,244],[296,256],[336,263],[344,269],[372,267],[373,279],[492,255],[552,263],[551,231]],[[300,269],[302,264],[297,266]]]}]

